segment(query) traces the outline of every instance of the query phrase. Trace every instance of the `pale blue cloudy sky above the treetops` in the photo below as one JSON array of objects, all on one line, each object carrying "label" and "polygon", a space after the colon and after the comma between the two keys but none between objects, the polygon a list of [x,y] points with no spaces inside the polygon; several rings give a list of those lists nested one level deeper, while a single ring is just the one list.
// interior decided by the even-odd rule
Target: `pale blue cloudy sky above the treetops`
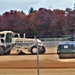
[{"label": "pale blue cloudy sky above the treetops", "polygon": [[23,10],[26,14],[31,7],[34,10],[46,9],[73,9],[75,0],[0,0],[0,14],[10,10]]}]

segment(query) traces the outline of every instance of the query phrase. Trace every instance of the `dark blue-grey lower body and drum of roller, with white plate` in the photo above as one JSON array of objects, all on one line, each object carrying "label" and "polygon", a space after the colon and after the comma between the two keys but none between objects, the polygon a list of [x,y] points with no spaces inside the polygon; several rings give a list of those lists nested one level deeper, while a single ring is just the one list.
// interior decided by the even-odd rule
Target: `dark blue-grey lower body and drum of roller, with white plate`
[{"label": "dark blue-grey lower body and drum of roller, with white plate", "polygon": [[75,41],[59,43],[57,54],[59,58],[75,58]]}]

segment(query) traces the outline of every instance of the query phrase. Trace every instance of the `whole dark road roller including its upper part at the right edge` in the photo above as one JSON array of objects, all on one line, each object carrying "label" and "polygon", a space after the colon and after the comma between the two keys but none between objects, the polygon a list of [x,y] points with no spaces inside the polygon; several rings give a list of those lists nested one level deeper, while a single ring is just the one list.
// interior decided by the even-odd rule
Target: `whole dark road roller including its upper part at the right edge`
[{"label": "whole dark road roller including its upper part at the right edge", "polygon": [[75,28],[68,28],[70,35],[57,48],[59,58],[75,58]]}]

